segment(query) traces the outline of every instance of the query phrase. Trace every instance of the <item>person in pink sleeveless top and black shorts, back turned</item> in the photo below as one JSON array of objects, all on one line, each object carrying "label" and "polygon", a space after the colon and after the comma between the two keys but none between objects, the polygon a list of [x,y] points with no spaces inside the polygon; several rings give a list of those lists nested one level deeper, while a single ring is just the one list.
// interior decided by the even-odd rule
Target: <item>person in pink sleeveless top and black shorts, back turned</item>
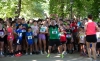
[{"label": "person in pink sleeveless top and black shorts, back turned", "polygon": [[[86,32],[86,45],[87,45],[87,51],[89,59],[91,58],[91,50],[93,52],[93,58],[94,61],[96,61],[96,31],[98,30],[98,26],[95,22],[92,20],[92,15],[88,15],[88,22],[85,24],[85,32]],[[90,47],[90,44],[92,44],[92,47]]]}]

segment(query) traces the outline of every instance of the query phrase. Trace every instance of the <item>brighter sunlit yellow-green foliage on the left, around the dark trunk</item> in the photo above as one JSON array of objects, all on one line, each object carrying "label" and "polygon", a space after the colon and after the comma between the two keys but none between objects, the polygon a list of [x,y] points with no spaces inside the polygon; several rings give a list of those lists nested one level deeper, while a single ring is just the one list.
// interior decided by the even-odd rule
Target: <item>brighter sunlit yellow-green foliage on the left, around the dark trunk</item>
[{"label": "brighter sunlit yellow-green foliage on the left, around the dark trunk", "polygon": [[[45,0],[22,0],[20,17],[44,18],[44,9],[42,4]],[[0,17],[15,17],[18,6],[18,0],[0,0]]]}]

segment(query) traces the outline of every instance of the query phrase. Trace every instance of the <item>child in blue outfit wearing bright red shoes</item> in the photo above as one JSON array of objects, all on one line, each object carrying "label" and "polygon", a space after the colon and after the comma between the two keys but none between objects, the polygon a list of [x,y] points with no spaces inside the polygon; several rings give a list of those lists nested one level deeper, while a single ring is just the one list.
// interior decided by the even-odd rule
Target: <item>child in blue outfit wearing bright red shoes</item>
[{"label": "child in blue outfit wearing bright red shoes", "polygon": [[16,29],[16,34],[17,34],[17,47],[16,47],[16,54],[15,56],[21,56],[21,44],[22,44],[22,24],[18,25],[18,28]]}]

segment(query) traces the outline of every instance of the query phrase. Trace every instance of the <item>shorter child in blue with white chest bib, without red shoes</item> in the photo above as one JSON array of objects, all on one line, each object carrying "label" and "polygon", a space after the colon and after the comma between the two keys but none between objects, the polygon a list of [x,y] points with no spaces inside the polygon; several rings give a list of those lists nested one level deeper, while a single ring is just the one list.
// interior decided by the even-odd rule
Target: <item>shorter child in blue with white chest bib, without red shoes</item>
[{"label": "shorter child in blue with white chest bib, without red shoes", "polygon": [[26,40],[27,40],[26,55],[28,54],[28,48],[30,48],[30,55],[32,55],[33,32],[31,27],[28,27],[28,31],[26,32]]}]

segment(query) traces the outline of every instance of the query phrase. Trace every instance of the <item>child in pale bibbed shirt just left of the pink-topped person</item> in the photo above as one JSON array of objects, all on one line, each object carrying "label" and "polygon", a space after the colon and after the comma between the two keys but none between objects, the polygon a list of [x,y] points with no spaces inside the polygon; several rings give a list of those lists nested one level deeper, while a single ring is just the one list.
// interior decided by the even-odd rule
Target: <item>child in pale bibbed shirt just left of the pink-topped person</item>
[{"label": "child in pale bibbed shirt just left of the pink-topped person", "polygon": [[80,28],[79,30],[79,45],[80,45],[80,55],[86,55],[86,49],[85,49],[85,32],[83,28]]}]

